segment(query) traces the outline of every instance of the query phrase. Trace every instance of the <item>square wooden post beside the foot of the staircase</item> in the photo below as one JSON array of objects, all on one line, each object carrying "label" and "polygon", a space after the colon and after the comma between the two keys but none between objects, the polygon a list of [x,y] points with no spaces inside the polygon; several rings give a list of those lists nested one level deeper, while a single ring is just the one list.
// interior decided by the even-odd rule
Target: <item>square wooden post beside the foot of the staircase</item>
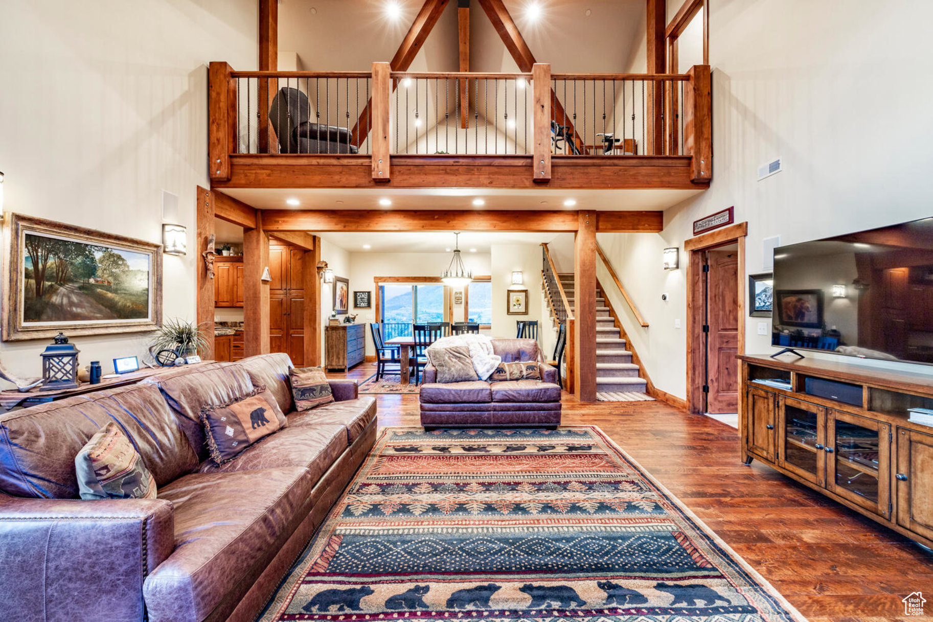
[{"label": "square wooden post beside the foot of the staircase", "polygon": [[578,212],[574,238],[574,393],[596,401],[596,213]]}]

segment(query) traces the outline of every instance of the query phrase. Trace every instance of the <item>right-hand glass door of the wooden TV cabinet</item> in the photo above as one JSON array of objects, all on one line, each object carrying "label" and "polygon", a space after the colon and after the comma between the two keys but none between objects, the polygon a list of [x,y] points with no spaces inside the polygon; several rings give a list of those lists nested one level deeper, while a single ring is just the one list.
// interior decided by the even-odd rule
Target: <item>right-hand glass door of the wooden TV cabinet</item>
[{"label": "right-hand glass door of the wooden TV cabinet", "polygon": [[890,427],[830,410],[827,488],[872,512],[890,517]]}]

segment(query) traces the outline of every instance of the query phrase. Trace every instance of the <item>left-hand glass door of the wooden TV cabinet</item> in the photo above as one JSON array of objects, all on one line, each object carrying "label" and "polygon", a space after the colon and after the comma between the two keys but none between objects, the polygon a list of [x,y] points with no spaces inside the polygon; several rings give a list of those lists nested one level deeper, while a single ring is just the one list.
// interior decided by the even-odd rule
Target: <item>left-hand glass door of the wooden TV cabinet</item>
[{"label": "left-hand glass door of the wooden TV cabinet", "polygon": [[825,485],[826,408],[781,396],[778,461],[788,471]]}]

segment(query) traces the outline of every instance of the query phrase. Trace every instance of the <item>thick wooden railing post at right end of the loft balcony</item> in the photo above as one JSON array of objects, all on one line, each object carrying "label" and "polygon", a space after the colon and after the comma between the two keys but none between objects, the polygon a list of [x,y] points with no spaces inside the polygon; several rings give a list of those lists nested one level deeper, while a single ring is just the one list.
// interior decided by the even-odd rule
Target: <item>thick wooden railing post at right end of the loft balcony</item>
[{"label": "thick wooden railing post at right end of the loft balcony", "polygon": [[689,156],[690,179],[713,178],[713,98],[709,65],[693,65],[684,86],[684,150]]}]

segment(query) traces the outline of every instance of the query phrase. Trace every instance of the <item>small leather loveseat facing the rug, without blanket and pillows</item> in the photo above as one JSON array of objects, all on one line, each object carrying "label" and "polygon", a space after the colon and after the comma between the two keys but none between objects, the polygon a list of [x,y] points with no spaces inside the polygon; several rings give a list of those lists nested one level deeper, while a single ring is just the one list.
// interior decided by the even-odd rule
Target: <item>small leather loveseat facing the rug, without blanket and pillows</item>
[{"label": "small leather loveseat facing the rug, without blanket and pillows", "polygon": [[561,424],[557,370],[544,362],[536,339],[493,339],[504,363],[537,361],[541,380],[439,383],[437,369],[425,366],[421,424],[425,428],[556,427]]}]

